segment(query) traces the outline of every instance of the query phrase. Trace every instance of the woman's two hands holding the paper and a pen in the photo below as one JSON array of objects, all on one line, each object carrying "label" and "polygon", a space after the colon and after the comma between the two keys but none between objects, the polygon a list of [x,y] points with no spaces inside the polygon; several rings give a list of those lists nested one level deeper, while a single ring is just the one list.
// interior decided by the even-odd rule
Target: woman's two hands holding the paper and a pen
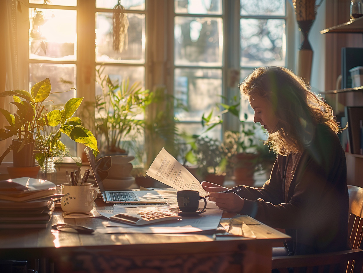
[{"label": "woman's two hands holding the paper and a pen", "polygon": [[216,206],[221,210],[231,213],[238,213],[242,210],[244,200],[239,195],[236,193],[221,193],[221,191],[229,190],[228,188],[206,181],[203,181],[201,185],[209,193],[209,200],[216,202]]}]

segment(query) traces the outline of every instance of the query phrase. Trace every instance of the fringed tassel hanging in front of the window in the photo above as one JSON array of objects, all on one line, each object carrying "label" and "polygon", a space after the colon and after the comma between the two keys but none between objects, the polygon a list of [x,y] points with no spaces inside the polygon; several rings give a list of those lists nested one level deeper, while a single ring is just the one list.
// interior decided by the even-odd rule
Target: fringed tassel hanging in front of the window
[{"label": "fringed tassel hanging in front of the window", "polygon": [[127,44],[129,43],[127,35],[129,20],[120,1],[118,0],[113,12],[113,49],[122,52],[124,48],[127,50]]}]

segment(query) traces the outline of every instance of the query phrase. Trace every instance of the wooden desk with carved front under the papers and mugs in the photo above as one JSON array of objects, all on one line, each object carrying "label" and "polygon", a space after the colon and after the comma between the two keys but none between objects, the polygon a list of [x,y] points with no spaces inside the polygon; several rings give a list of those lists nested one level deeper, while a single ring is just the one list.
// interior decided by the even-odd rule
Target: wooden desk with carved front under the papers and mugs
[{"label": "wooden desk with carved front under the papers and mugs", "polygon": [[[95,204],[110,207],[102,199]],[[0,230],[0,260],[40,259],[40,273],[270,272],[271,248],[289,236],[244,217],[257,239],[213,234],[80,235],[51,226],[65,222],[95,229],[103,227],[106,218],[64,219],[56,208],[48,228]]]}]

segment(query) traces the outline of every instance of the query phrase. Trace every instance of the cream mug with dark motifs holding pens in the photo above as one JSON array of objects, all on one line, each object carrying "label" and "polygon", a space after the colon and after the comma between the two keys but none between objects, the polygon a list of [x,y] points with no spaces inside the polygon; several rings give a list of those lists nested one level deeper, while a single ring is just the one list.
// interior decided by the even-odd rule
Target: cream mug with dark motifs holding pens
[{"label": "cream mug with dark motifs holding pens", "polygon": [[77,186],[70,186],[68,183],[57,185],[58,191],[64,194],[61,200],[61,207],[64,212],[86,213],[93,209],[93,201],[97,198],[97,191],[93,184],[77,183]]}]

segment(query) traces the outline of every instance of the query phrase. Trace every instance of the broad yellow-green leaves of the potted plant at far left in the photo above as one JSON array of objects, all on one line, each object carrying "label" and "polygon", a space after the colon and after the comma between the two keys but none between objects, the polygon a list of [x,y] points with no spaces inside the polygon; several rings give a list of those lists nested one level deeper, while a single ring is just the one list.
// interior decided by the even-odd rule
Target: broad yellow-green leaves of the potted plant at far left
[{"label": "broad yellow-green leaves of the potted plant at far left", "polygon": [[[34,84],[31,91],[11,90],[0,93],[0,97],[12,96],[17,107],[16,113],[12,114],[5,109],[1,113],[7,119],[9,126],[0,129],[0,140],[16,136],[21,140],[19,150],[29,142],[36,142],[36,160],[42,166],[44,158],[53,157],[55,152],[62,151],[64,154],[66,146],[60,141],[62,133],[69,136],[72,140],[90,147],[94,154],[98,153],[97,140],[92,132],[82,126],[82,121],[74,117],[83,98],[72,98],[66,102],[64,108],[48,111],[44,103],[48,98],[52,86],[49,78]],[[49,135],[45,135],[45,127],[56,128]],[[0,163],[7,153],[14,148],[10,145],[0,157]]]}]

